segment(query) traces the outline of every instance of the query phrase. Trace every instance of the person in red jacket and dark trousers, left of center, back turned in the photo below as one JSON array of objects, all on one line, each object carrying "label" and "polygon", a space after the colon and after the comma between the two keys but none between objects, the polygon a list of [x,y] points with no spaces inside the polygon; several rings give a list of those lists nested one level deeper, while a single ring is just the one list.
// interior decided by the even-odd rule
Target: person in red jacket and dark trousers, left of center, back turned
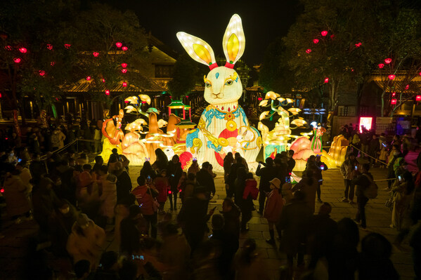
[{"label": "person in red jacket and dark trousers, left of center, back turned", "polygon": [[158,192],[145,184],[145,178],[139,176],[137,179],[138,186],[134,188],[131,193],[134,194],[138,205],[141,207],[141,213],[143,218],[148,221],[147,229],[150,236],[157,238],[157,211],[153,204],[155,203],[155,197],[158,196]]}]

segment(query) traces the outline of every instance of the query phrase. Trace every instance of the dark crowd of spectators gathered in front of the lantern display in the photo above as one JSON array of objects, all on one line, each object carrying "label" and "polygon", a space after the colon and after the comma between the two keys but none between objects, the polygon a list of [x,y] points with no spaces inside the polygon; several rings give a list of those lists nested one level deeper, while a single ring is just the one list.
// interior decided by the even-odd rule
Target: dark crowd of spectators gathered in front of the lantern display
[{"label": "dark crowd of spectators gathered in front of the lantern display", "polygon": [[[63,142],[67,136],[60,132]],[[391,224],[399,230],[399,242],[414,232],[410,246],[420,277],[421,173],[408,173],[401,146],[395,142],[392,147]],[[216,211],[216,174],[209,162],[193,160],[183,171],[179,156],[169,160],[156,149],[156,161],[146,161],[132,182],[129,160],[117,149],[108,164],[96,156],[93,166],[71,149],[44,160],[32,149],[30,160],[22,159],[25,149],[19,156],[16,147],[8,149],[1,156],[6,213],[16,224],[33,219],[39,225],[22,269],[26,278],[269,279],[257,242],[246,239],[240,246],[257,211],[268,222],[266,242],[287,256],[279,279],[292,279],[294,267],[302,279],[354,279],[357,272],[359,279],[399,279],[384,236],[368,234],[357,250],[358,225],[367,226],[365,204],[373,198],[374,182],[371,165],[353,153],[340,170],[343,201],[354,203],[356,194],[356,217],[336,222],[330,218],[332,206],[322,201],[328,166],[320,156],[310,156],[302,179],[294,182],[292,150],[259,162],[255,173],[240,154],[228,153],[226,197],[219,197],[221,210]],[[115,251],[106,248],[110,239],[118,245]],[[57,267],[48,264],[48,254],[59,260]]]}]

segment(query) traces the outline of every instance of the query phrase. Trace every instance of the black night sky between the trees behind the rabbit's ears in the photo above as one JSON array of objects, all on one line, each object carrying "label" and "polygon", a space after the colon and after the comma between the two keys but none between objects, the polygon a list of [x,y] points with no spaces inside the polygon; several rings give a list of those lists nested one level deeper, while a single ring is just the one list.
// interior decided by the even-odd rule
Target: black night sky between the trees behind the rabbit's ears
[{"label": "black night sky between the trees behind the rabbit's ears", "polygon": [[231,15],[238,13],[245,32],[245,53],[249,65],[261,63],[268,44],[284,36],[300,11],[297,0],[193,1],[193,0],[108,0],[115,8],[130,9],[138,15],[146,32],[151,31],[174,51],[184,51],[176,39],[183,31],[200,37],[224,57],[222,37]]}]

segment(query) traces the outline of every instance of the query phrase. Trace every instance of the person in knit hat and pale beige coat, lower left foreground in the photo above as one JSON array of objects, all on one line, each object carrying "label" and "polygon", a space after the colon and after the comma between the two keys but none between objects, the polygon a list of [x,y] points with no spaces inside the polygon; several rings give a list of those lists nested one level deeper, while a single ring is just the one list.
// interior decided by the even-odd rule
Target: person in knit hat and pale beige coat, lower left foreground
[{"label": "person in knit hat and pale beige coat, lower left foreground", "polygon": [[104,229],[98,227],[86,214],[81,213],[73,224],[66,249],[72,256],[73,263],[89,260],[91,269],[95,269],[98,267],[104,243]]}]

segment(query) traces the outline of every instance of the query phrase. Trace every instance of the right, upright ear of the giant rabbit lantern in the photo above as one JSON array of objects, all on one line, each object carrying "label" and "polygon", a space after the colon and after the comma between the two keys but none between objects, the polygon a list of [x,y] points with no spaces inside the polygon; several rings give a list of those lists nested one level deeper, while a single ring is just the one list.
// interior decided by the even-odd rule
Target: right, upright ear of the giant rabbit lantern
[{"label": "right, upright ear of the giant rabbit lantern", "polygon": [[233,15],[226,27],[224,39],[222,39],[222,48],[224,48],[226,64],[225,67],[234,68],[245,48],[245,36],[242,30],[240,15]]}]

